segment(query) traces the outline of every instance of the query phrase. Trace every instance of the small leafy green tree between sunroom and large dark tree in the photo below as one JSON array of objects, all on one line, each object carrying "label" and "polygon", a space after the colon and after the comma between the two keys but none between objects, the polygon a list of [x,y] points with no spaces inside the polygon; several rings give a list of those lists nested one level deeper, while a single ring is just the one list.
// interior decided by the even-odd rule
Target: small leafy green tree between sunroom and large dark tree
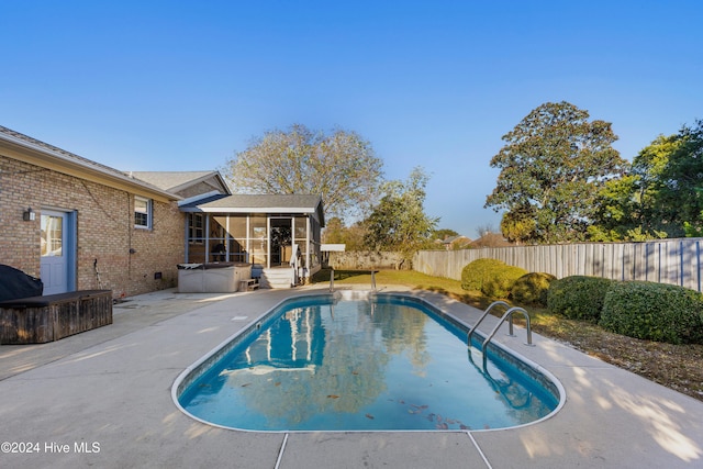
[{"label": "small leafy green tree between sunroom and large dark tree", "polygon": [[415,168],[406,181],[389,181],[384,194],[366,220],[366,244],[375,250],[401,253],[410,263],[417,249],[432,243],[439,219],[425,214],[425,187],[429,177]]}]

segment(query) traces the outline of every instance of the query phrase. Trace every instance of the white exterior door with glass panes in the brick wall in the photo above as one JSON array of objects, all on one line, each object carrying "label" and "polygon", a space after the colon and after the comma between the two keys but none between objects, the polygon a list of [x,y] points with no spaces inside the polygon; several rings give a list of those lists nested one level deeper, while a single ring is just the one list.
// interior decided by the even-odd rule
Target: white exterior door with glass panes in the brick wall
[{"label": "white exterior door with glass panes in the brick wall", "polygon": [[65,293],[68,280],[68,223],[67,214],[42,211],[42,261],[41,276],[44,294]]}]

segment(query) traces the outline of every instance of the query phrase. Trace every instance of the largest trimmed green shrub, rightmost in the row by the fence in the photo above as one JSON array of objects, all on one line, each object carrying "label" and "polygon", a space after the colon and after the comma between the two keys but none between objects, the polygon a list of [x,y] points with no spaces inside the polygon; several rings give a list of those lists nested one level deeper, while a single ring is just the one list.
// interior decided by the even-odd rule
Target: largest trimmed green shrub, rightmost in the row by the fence
[{"label": "largest trimmed green shrub, rightmost in the row by the fence", "polygon": [[600,325],[629,337],[701,344],[703,297],[673,284],[620,282],[605,295]]}]

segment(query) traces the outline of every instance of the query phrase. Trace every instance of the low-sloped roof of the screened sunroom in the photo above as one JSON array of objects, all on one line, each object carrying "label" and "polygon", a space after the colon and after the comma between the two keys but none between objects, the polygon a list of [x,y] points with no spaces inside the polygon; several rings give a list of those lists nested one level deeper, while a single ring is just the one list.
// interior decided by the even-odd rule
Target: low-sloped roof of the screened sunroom
[{"label": "low-sloped roof of the screened sunroom", "polygon": [[214,194],[180,205],[182,212],[314,214],[324,226],[322,198],[313,194]]}]

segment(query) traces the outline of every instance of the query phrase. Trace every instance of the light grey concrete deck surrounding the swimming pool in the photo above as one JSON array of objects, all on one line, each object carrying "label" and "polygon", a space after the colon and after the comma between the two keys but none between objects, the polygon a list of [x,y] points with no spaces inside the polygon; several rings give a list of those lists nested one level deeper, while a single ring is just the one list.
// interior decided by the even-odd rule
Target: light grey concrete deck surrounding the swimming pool
[{"label": "light grey concrete deck surrounding the swimming pool", "polygon": [[[174,404],[171,386],[183,369],[278,302],[315,290],[325,291],[166,290],[116,304],[112,325],[49,344],[0,346],[0,467],[703,467],[703,402],[538,334],[527,347],[520,327],[516,337],[501,330],[494,340],[557,377],[567,399],[550,418],[518,428],[237,432],[197,422]],[[481,313],[412,293],[468,324]],[[496,322],[489,316],[479,328]]]}]

